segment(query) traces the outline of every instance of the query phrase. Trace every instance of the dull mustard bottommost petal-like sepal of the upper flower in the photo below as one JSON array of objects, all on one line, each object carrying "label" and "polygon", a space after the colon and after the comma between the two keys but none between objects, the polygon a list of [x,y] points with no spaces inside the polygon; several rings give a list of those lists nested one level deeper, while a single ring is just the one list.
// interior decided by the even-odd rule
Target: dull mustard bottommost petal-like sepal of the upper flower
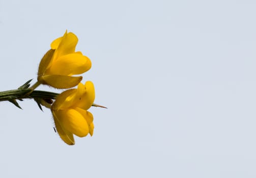
[{"label": "dull mustard bottommost petal-like sepal of the upper flower", "polygon": [[50,85],[54,88],[71,88],[76,86],[82,77],[71,77],[71,76],[64,76],[64,75],[45,75],[38,78],[42,84]]}]

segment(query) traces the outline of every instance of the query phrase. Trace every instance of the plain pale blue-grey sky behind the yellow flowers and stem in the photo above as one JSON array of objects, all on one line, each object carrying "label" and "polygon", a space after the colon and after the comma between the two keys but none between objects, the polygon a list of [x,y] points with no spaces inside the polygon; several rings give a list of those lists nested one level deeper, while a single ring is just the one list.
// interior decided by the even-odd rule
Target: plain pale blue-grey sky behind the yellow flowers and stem
[{"label": "plain pale blue-grey sky behind the yellow flowers and stem", "polygon": [[[0,103],[0,177],[256,177],[255,1],[0,0],[1,91],[66,29],[90,57],[93,137]],[[46,86],[39,90],[62,92]]]}]

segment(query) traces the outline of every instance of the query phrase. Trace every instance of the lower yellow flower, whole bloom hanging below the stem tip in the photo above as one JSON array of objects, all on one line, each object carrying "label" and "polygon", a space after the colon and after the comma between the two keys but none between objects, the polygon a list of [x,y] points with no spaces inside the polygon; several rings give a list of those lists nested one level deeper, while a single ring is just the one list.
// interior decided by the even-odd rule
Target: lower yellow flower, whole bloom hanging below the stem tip
[{"label": "lower yellow flower, whole bloom hanging below the stem tip", "polygon": [[93,114],[87,111],[93,104],[93,82],[79,83],[77,89],[61,93],[51,106],[56,130],[67,144],[75,144],[73,134],[84,137],[93,135]]}]

